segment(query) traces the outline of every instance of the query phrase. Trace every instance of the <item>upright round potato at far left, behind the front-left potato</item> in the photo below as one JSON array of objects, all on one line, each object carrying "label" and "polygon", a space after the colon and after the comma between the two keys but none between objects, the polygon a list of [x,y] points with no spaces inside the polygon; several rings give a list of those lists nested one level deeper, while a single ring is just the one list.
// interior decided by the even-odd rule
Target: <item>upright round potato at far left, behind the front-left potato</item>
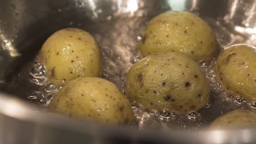
[{"label": "upright round potato at far left, behind the front-left potato", "polygon": [[55,86],[77,77],[100,76],[101,52],[95,39],[78,28],[55,32],[43,44],[39,61]]}]

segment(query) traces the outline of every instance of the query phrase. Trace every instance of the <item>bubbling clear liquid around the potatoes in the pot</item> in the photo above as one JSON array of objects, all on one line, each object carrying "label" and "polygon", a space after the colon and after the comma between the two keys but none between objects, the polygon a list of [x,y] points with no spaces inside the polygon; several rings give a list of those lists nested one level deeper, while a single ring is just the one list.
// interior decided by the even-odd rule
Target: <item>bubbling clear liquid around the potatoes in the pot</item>
[{"label": "bubbling clear liquid around the potatoes in the pot", "polygon": [[[58,10],[59,11],[59,10]],[[102,77],[117,85],[123,91],[125,75],[132,64],[141,59],[137,52],[138,41],[141,40],[143,29],[152,16],[127,16],[114,17],[107,16],[102,22],[85,26],[83,23],[69,22],[72,27],[81,27],[89,31],[100,45],[103,56]],[[229,31],[222,23],[225,20],[205,19],[216,32],[220,50],[231,44],[251,43],[242,34],[235,34]],[[99,28],[104,27],[104,28]],[[241,99],[236,99],[223,92],[218,85],[212,70],[214,58],[211,62],[202,63],[201,68],[206,73],[206,77],[211,86],[211,101],[203,109],[187,115],[176,115],[168,112],[147,112],[139,107],[133,106],[133,111],[137,117],[139,129],[179,129],[193,130],[207,128],[214,119],[231,110],[248,109],[248,104]],[[45,69],[38,62],[27,63],[19,74],[13,77],[11,84],[22,86],[19,94],[26,95],[26,98],[33,103],[38,103],[46,108],[54,94],[59,91],[50,84],[45,77]],[[24,88],[26,87],[26,88]],[[256,104],[250,105],[252,108]]]}]

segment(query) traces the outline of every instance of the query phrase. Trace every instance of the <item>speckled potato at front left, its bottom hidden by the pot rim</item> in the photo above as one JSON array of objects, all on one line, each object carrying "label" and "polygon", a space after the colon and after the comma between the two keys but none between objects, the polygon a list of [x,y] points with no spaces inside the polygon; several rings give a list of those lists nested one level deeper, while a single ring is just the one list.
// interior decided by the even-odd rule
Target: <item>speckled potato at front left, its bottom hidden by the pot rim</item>
[{"label": "speckled potato at front left, its bottom hidden by the pot rim", "polygon": [[67,82],[54,96],[48,111],[114,125],[130,124],[134,118],[123,93],[113,83],[98,77]]}]

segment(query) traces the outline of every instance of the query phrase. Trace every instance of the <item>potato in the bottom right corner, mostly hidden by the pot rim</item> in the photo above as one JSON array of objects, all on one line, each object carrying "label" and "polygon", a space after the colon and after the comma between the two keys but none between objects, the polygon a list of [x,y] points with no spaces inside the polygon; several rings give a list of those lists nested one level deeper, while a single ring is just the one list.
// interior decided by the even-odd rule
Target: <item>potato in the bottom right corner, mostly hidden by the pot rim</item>
[{"label": "potato in the bottom right corner, mostly hidden by the pot rim", "polygon": [[246,129],[256,127],[256,113],[249,110],[234,110],[217,118],[210,130]]}]

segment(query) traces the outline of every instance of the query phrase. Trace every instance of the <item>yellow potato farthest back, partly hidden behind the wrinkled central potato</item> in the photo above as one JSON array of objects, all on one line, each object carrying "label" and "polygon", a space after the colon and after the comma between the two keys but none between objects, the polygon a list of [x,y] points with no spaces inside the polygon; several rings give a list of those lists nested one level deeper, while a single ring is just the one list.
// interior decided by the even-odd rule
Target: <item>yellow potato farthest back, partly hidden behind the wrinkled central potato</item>
[{"label": "yellow potato farthest back, partly hidden behind the wrinkled central potato", "polygon": [[144,56],[156,52],[181,52],[196,62],[208,61],[218,51],[208,24],[185,11],[167,11],[152,19],[139,44]]}]

